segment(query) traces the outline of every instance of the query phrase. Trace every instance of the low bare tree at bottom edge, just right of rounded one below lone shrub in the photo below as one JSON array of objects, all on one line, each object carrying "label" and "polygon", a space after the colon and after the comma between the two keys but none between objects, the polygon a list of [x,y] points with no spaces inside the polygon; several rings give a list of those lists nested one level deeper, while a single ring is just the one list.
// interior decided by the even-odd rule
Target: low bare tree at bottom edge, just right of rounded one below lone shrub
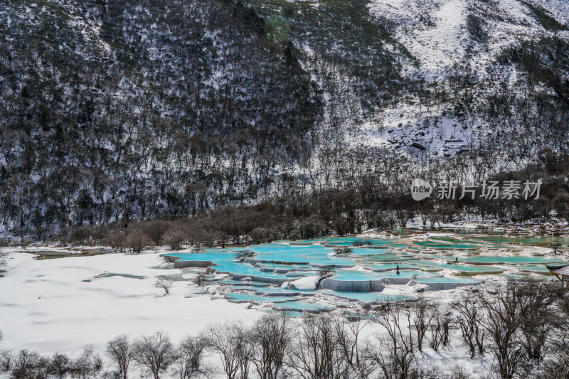
[{"label": "low bare tree at bottom edge, just right of rounded one below lone shrub", "polygon": [[174,374],[180,379],[212,375],[215,370],[203,363],[207,346],[208,341],[203,336],[184,338],[176,350]]}]

